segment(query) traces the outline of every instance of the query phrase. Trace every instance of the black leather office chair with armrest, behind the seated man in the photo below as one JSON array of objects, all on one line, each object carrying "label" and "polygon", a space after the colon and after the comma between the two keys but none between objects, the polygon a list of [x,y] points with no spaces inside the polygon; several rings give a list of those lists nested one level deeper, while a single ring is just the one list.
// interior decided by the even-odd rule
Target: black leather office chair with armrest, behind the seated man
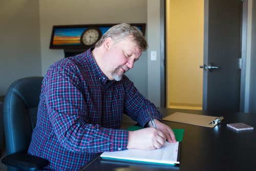
[{"label": "black leather office chair with armrest, behind the seated man", "polygon": [[39,170],[49,161],[28,155],[43,77],[27,77],[11,84],[4,100],[4,128],[7,156],[2,163],[8,171]]}]

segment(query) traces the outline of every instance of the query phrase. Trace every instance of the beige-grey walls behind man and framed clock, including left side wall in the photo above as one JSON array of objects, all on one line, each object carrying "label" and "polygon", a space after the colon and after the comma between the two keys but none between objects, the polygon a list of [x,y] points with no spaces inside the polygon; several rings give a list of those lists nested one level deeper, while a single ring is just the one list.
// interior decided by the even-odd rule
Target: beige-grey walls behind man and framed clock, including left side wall
[{"label": "beige-grey walls behind man and framed clock, including left side wall", "polygon": [[[0,96],[14,80],[43,76],[63,58],[63,50],[49,49],[53,25],[109,23],[147,23],[147,0],[0,1]],[[147,97],[147,51],[126,75]]]}]

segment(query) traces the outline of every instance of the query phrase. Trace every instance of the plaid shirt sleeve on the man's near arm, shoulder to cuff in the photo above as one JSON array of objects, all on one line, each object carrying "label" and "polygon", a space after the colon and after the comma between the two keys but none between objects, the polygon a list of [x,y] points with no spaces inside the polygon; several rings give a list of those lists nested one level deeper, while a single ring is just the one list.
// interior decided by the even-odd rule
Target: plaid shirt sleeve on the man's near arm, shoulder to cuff
[{"label": "plaid shirt sleeve on the man's near arm, shoulder to cuff", "polygon": [[126,149],[128,132],[87,123],[88,111],[76,66],[48,71],[43,89],[48,115],[60,144],[74,152],[112,152]]}]

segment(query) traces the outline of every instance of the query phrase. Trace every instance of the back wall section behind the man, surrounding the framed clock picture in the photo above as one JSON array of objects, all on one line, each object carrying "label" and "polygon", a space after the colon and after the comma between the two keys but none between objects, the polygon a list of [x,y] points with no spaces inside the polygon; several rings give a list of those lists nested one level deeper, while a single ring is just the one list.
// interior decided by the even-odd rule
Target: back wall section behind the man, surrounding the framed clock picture
[{"label": "back wall section behind the man, surrounding the framed clock picture", "polygon": [[[50,65],[63,58],[63,50],[49,49],[52,26],[146,23],[146,0],[44,0],[39,1],[42,74]],[[146,25],[147,28],[147,25]],[[139,74],[138,74],[139,73]],[[134,69],[126,75],[147,97],[147,53],[143,52]]]}]

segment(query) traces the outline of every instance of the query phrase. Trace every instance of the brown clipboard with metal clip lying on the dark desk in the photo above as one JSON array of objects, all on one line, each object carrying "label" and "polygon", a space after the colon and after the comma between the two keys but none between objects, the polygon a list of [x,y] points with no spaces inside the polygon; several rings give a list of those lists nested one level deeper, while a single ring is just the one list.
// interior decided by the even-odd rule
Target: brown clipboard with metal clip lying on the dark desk
[{"label": "brown clipboard with metal clip lying on the dark desk", "polygon": [[[223,119],[224,117],[188,114],[182,112],[176,112],[163,118],[165,121],[186,123],[205,127],[215,127]],[[216,120],[219,120],[219,122],[215,122]]]}]

